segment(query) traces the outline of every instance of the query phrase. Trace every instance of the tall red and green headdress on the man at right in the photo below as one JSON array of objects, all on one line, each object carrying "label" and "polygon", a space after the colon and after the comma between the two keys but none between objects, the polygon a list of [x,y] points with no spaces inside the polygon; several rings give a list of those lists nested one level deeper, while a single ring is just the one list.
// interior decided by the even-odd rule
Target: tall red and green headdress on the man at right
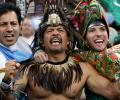
[{"label": "tall red and green headdress on the man at right", "polygon": [[76,29],[76,38],[85,41],[88,26],[95,21],[102,22],[109,35],[109,28],[104,15],[100,10],[100,4],[96,0],[81,0],[74,10],[71,23]]}]

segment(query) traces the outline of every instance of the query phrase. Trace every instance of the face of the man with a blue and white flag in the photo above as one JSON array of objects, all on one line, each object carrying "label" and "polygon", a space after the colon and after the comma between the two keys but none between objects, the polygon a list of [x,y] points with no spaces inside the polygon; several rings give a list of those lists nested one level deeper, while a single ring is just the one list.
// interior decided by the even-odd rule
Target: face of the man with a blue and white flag
[{"label": "face of the man with a blue and white flag", "polygon": [[19,23],[15,12],[7,12],[0,16],[0,43],[11,46],[19,37]]}]

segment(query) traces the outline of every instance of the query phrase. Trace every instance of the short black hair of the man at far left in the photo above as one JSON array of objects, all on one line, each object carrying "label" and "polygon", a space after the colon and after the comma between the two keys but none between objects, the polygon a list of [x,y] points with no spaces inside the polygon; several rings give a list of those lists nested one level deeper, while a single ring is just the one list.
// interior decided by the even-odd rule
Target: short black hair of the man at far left
[{"label": "short black hair of the man at far left", "polygon": [[0,4],[0,16],[2,16],[5,13],[11,12],[11,11],[14,11],[16,13],[18,22],[20,24],[22,20],[20,9],[12,3],[1,3]]}]

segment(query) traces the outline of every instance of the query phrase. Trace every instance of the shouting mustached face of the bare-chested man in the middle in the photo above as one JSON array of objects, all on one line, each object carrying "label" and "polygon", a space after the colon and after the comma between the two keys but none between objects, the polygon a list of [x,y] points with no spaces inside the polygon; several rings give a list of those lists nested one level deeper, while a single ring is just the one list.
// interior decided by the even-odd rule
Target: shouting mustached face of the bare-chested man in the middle
[{"label": "shouting mustached face of the bare-chested man in the middle", "polygon": [[44,46],[46,52],[65,52],[69,44],[67,32],[63,26],[49,26],[44,33]]}]

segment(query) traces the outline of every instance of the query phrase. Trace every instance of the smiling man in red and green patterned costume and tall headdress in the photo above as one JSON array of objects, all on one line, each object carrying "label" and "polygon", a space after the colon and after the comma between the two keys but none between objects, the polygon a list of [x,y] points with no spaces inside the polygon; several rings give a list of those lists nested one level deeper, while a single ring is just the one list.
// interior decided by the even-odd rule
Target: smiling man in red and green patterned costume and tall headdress
[{"label": "smiling man in red and green patterned costume and tall headdress", "polygon": [[[81,0],[76,6],[71,23],[76,29],[78,61],[89,62],[103,76],[115,81],[120,75],[119,50],[109,47],[109,27],[106,23],[100,5],[96,0]],[[120,46],[118,45],[118,48]],[[74,54],[74,53],[73,53]],[[108,100],[91,92],[86,85],[86,100]]]}]

